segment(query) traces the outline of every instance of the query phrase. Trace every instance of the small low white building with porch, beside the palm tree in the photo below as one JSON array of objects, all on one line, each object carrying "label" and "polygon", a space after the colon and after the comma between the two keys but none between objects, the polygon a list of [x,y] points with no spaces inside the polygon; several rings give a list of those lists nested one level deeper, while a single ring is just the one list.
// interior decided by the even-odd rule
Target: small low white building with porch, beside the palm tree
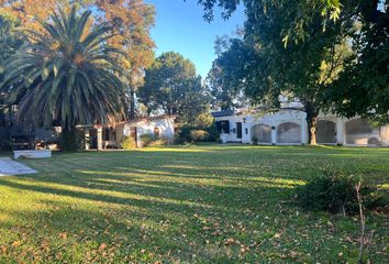
[{"label": "small low white building with porch, beside the palm tree", "polygon": [[175,117],[160,116],[141,118],[105,127],[84,127],[84,131],[86,150],[116,148],[124,136],[132,136],[136,141],[136,145],[142,146],[143,134],[165,138],[173,142],[175,136]]}]

